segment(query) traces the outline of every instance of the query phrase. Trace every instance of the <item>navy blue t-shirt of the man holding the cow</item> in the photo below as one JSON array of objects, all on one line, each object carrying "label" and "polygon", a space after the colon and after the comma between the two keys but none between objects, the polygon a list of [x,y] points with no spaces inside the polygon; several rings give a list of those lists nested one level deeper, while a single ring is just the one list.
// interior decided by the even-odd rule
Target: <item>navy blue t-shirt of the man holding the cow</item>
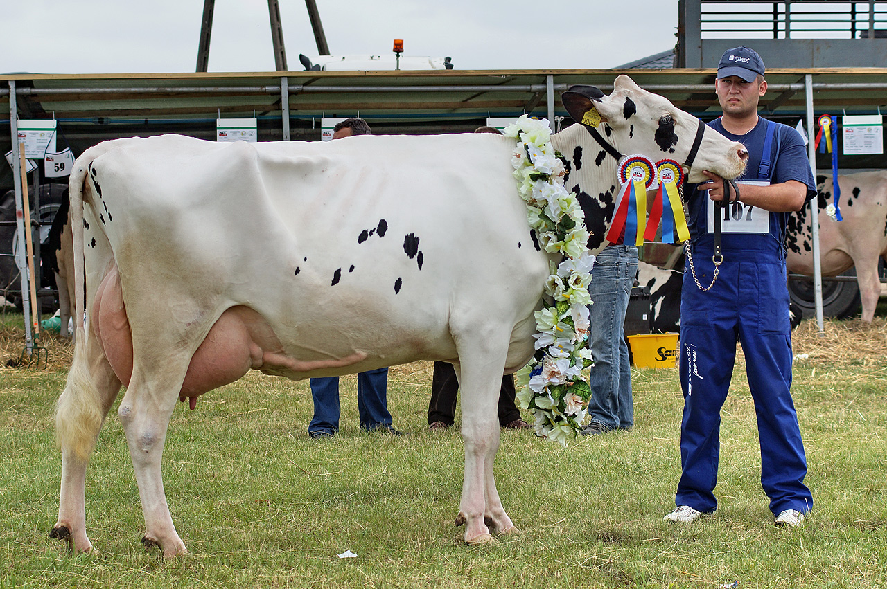
[{"label": "navy blue t-shirt of the man holding the cow", "polygon": [[[758,180],[758,170],[761,165],[761,156],[764,152],[767,125],[775,125],[773,143],[770,151],[770,177],[764,178],[771,184],[781,184],[789,180],[797,180],[807,186],[805,202],[816,196],[816,182],[810,170],[810,159],[807,158],[807,148],[804,138],[796,129],[781,123],[757,118],[757,125],[745,135],[733,135],[724,129],[720,117],[712,120],[709,127],[718,131],[723,136],[745,145],[749,151],[748,165],[742,176],[736,180]],[[708,193],[697,190],[699,184],[687,184],[686,194],[687,211],[689,218],[687,224],[690,236],[696,241],[697,236],[703,236],[708,231]],[[742,186],[740,186],[742,193]],[[770,235],[780,243],[785,241],[786,224],[789,222],[789,213],[770,213]],[[704,237],[703,237],[704,238]],[[725,233],[722,237],[724,247],[728,248],[731,242],[737,239],[736,234]],[[739,244],[736,244],[739,246]],[[740,246],[741,247],[741,246]]]}]

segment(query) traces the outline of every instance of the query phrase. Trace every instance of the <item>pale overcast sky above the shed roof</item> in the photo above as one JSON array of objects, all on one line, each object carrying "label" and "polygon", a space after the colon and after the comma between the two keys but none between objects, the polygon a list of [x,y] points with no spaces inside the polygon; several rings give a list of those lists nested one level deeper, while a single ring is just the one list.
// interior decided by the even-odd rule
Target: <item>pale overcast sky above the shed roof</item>
[{"label": "pale overcast sky above the shed roof", "polygon": [[[316,0],[333,55],[452,58],[455,69],[607,68],[676,42],[677,0]],[[317,61],[304,0],[279,0],[287,67]],[[193,72],[203,0],[0,0],[0,73]],[[267,0],[216,0],[208,71],[274,71]]]}]

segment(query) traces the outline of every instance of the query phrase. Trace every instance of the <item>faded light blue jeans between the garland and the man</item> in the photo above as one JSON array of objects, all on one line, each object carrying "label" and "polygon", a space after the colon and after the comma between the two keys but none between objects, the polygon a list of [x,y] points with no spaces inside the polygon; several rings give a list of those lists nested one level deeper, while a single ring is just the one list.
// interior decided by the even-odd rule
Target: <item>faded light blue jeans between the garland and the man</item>
[{"label": "faded light blue jeans between the garland and the man", "polygon": [[623,323],[638,273],[638,248],[610,245],[594,260],[589,307],[588,341],[594,366],[589,384],[588,413],[604,427],[628,429],[634,425],[632,373]]}]

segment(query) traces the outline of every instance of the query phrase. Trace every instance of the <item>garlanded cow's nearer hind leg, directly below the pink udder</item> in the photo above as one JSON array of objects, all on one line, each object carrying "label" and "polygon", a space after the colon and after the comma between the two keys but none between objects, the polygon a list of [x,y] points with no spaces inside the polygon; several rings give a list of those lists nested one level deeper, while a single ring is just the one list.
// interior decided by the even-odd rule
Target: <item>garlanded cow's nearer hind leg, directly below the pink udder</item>
[{"label": "garlanded cow's nearer hind leg, directly below the pink udder", "polygon": [[168,367],[161,371],[164,375],[155,374],[149,380],[134,367],[130,387],[118,410],[145,515],[142,543],[146,548],[160,546],[165,558],[188,552],[172,523],[161,471],[169,418],[187,366],[178,367],[179,370],[169,368],[175,367]]}]

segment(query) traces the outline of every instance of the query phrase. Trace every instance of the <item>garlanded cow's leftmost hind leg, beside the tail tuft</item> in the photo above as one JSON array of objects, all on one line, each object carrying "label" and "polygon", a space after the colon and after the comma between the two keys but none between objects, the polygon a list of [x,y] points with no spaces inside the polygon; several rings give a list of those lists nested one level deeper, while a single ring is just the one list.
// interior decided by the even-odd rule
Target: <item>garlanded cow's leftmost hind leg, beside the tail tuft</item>
[{"label": "garlanded cow's leftmost hind leg, beside the tail tuft", "polygon": [[61,492],[59,519],[50,537],[65,540],[76,552],[90,552],[84,499],[86,467],[121,383],[101,352],[98,338],[93,334],[86,342],[80,339],[56,407],[56,437],[62,453]]}]

